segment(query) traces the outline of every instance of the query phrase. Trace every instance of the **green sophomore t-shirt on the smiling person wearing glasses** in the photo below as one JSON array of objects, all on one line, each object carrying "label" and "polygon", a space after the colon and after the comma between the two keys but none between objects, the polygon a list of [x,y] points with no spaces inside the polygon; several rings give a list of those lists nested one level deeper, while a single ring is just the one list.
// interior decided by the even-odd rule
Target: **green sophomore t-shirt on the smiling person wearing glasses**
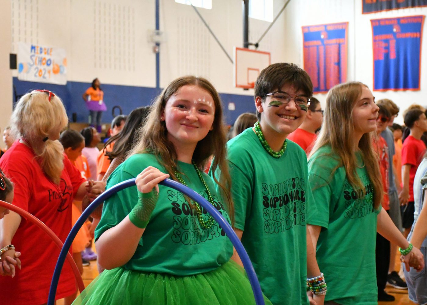
[{"label": "green sophomore t-shirt on the smiling person wearing glasses", "polygon": [[292,141],[280,158],[252,128],[228,141],[235,224],[263,293],[275,305],[308,304],[307,218],[315,213],[307,156]]}]

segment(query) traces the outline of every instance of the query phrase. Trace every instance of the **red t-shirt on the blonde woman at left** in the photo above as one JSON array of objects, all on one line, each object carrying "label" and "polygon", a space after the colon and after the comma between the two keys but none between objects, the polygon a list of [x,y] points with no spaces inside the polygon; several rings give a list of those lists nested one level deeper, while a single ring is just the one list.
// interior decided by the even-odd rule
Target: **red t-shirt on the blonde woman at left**
[{"label": "red t-shirt on the blonde woman at left", "polygon": [[[37,217],[64,242],[71,230],[73,197],[79,186],[85,182],[67,156],[64,155],[64,170],[59,185],[64,195],[63,200],[25,144],[16,143],[7,150],[0,159],[0,167],[14,183],[15,197],[12,204]],[[59,255],[58,247],[46,233],[24,218],[21,219],[12,244],[22,253],[22,270],[17,270],[13,279],[10,276],[0,276],[1,290],[7,291],[12,298],[9,301],[13,304],[46,303]],[[70,264],[65,261],[56,299],[69,296],[74,291],[74,273]]]}]

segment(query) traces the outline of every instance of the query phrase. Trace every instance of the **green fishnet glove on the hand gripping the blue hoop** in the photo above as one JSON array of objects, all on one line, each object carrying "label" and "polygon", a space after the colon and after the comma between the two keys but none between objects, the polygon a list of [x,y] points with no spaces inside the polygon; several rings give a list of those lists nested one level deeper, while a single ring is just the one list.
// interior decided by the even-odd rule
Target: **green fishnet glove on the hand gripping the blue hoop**
[{"label": "green fishnet glove on the hand gripping the blue hoop", "polygon": [[158,197],[159,193],[155,188],[149,193],[141,193],[138,191],[138,202],[129,213],[129,219],[135,226],[140,229],[144,229],[147,226]]}]

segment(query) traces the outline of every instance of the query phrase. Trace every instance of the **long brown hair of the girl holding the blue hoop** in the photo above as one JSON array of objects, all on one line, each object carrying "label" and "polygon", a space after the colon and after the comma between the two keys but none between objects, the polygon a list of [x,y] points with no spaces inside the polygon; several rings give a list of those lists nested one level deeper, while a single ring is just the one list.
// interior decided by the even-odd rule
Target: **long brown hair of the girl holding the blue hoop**
[{"label": "long brown hair of the girl holding the blue hoop", "polygon": [[[221,188],[221,195],[226,200],[228,205],[228,213],[233,220],[234,208],[231,200],[231,178],[228,171],[228,164],[226,161],[226,130],[222,116],[222,104],[218,92],[213,85],[205,78],[196,76],[182,76],[173,80],[157,97],[151,106],[150,113],[147,117],[146,123],[139,131],[139,142],[131,150],[129,155],[135,153],[152,152],[164,165],[169,175],[176,179],[174,169],[176,168],[177,153],[175,146],[167,139],[167,129],[165,121],[161,120],[161,115],[167,101],[179,88],[186,85],[196,85],[211,94],[215,104],[215,117],[213,120],[213,129],[208,132],[205,138],[200,140],[193,153],[193,160],[200,170],[203,170],[208,159],[213,156],[211,164],[213,180]],[[221,177],[219,181],[216,179],[214,173],[219,169]]]}]

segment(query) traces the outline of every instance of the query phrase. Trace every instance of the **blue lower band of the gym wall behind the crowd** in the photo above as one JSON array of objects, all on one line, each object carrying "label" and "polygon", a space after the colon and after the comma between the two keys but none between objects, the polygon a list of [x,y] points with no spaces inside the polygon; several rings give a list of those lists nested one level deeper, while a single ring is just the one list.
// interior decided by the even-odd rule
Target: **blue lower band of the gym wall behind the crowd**
[{"label": "blue lower band of the gym wall behind the crowd", "polygon": [[[40,82],[27,82],[13,78],[13,85],[16,88],[18,95],[34,89],[47,89],[53,91],[64,101],[65,109],[67,109],[68,117],[71,120],[72,113],[77,114],[77,122],[85,123],[88,121],[88,110],[86,109],[85,101],[82,99],[82,94],[91,86],[87,82],[67,82],[67,85],[47,84]],[[119,105],[123,109],[123,114],[129,114],[133,109],[141,106],[147,106],[160,93],[156,88],[123,86],[123,85],[108,85],[102,84],[104,91],[104,102],[108,110],[102,115],[102,123],[111,123],[113,116],[111,109]],[[223,102],[223,109],[226,123],[234,124],[234,121],[243,112],[255,112],[254,98],[250,95],[240,94],[219,94]],[[15,98],[15,97],[14,97]],[[228,103],[234,103],[236,110],[229,111]],[[118,114],[118,111],[115,111]]]}]

